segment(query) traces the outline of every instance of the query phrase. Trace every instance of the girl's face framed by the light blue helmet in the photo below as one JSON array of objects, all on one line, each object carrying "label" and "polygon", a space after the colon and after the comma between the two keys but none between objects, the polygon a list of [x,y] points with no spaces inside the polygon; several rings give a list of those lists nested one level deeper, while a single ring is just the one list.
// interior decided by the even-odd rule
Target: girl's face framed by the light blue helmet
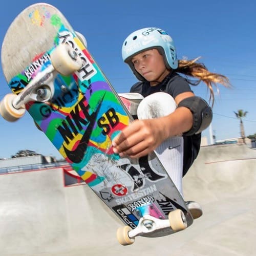
[{"label": "girl's face framed by the light blue helmet", "polygon": [[135,70],[149,81],[151,86],[156,86],[170,73],[157,49],[138,53],[132,58],[132,62]]}]

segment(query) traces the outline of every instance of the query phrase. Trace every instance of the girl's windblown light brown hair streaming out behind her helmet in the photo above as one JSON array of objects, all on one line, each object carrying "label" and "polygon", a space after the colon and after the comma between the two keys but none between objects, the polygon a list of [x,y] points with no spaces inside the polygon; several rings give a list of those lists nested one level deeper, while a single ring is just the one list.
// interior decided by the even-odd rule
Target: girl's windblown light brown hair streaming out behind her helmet
[{"label": "girl's windblown light brown hair streaming out behind her helmet", "polygon": [[[226,76],[212,73],[208,71],[203,63],[197,62],[199,58],[200,57],[191,60],[179,60],[179,66],[175,71],[184,74],[187,82],[193,86],[197,86],[201,81],[203,81],[210,91],[209,102],[212,102],[211,105],[213,106],[215,100],[213,86],[216,86],[218,90],[218,83],[227,88],[231,87],[231,85]],[[187,76],[194,77],[196,80],[190,80]]]}]

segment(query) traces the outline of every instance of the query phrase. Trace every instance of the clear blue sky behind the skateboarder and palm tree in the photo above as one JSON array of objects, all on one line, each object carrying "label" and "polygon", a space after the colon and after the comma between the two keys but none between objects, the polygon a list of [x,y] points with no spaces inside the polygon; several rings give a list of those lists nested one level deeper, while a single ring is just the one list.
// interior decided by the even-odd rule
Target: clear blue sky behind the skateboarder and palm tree
[{"label": "clear blue sky behind the skateboarder and palm tree", "polygon": [[[9,0],[2,4],[0,42],[15,16],[37,1]],[[86,36],[88,48],[118,93],[128,92],[136,78],[121,58],[122,42],[131,32],[159,27],[173,37],[178,58],[201,56],[210,71],[229,77],[233,89],[219,87],[212,129],[217,140],[240,136],[233,111],[248,111],[245,133],[256,133],[256,2],[255,1],[45,1],[56,6],[73,28]],[[10,90],[0,69],[0,98]],[[208,99],[206,86],[193,87]],[[61,158],[47,137],[26,114],[15,123],[0,117],[0,158],[29,149]],[[208,129],[203,136],[209,136]]]}]

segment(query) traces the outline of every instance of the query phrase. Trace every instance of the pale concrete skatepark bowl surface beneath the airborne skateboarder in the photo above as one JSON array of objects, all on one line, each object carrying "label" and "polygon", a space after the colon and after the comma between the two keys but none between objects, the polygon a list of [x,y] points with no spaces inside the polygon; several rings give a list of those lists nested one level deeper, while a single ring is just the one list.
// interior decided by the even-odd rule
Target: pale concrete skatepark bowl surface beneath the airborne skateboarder
[{"label": "pale concrete skatepark bowl surface beneath the airborne skateboarder", "polygon": [[202,147],[183,179],[203,216],[162,238],[118,244],[122,223],[87,185],[65,187],[62,169],[0,175],[0,255],[255,255],[256,150]]}]

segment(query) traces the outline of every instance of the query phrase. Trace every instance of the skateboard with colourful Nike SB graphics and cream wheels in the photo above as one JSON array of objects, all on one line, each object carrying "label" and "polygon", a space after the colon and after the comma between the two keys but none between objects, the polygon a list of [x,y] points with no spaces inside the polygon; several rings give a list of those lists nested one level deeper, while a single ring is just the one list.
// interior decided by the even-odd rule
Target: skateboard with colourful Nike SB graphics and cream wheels
[{"label": "skateboard with colourful Nike SB graphics and cream wheels", "polygon": [[134,120],[141,99],[118,96],[58,9],[40,3],[17,15],[3,41],[2,68],[12,93],[0,103],[1,115],[15,121],[29,112],[125,224],[117,231],[120,244],[136,236],[166,236],[193,223],[156,153],[135,160],[114,154],[112,139]]}]

